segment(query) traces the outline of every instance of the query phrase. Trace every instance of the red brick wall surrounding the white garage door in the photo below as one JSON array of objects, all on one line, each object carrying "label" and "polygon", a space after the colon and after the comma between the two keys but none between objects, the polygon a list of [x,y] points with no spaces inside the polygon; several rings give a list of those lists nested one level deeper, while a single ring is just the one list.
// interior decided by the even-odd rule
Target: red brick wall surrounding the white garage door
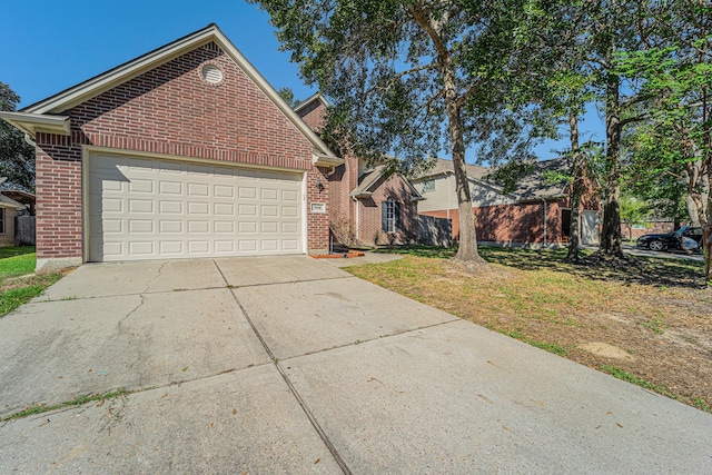
[{"label": "red brick wall surrounding the white garage door", "polygon": [[[224,80],[202,80],[202,65]],[[309,249],[326,249],[328,224],[312,201],[313,146],[263,91],[209,43],[72,108],[71,137],[37,136],[38,258],[81,256],[81,146],[119,148],[308,171]],[[327,235],[325,239],[324,236]],[[312,247],[316,246],[316,247]]]}]

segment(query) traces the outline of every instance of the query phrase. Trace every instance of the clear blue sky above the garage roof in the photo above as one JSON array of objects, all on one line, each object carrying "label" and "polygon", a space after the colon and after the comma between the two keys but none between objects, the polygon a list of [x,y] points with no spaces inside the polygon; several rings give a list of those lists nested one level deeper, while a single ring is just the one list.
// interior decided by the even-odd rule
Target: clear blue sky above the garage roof
[{"label": "clear blue sky above the garage roof", "polygon": [[[20,108],[212,22],[276,89],[289,87],[298,99],[316,92],[279,51],[269,17],[243,0],[3,0],[1,11],[0,81],[20,96]],[[536,152],[552,158],[553,147]]]}]

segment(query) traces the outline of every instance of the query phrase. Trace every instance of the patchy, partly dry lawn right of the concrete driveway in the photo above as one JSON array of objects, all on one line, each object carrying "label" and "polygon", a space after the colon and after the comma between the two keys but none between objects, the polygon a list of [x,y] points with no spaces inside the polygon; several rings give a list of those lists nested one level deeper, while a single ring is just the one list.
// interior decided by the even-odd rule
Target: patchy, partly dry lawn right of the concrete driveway
[{"label": "patchy, partly dry lawn right of the concrete driveway", "polygon": [[712,412],[712,289],[698,261],[565,265],[565,250],[482,248],[472,274],[452,249],[352,274],[617,378]]}]

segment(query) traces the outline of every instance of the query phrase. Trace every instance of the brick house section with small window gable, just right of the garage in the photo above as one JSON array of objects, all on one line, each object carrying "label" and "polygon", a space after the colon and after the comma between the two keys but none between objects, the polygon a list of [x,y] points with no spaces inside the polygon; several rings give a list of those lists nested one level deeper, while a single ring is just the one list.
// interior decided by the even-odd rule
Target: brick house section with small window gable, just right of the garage
[{"label": "brick house section with small window gable, just right of the garage", "polygon": [[[328,102],[316,93],[295,107],[315,131],[324,125]],[[345,162],[326,174],[329,220],[335,240],[345,245],[412,243],[417,238],[421,194],[400,174],[344,154]]]}]

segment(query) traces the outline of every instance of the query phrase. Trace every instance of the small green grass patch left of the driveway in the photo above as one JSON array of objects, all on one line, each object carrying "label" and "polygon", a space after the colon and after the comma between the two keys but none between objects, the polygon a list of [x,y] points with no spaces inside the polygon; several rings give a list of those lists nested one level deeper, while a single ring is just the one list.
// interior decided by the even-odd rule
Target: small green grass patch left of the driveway
[{"label": "small green grass patch left of the driveway", "polygon": [[0,247],[0,318],[40,295],[60,274],[34,275],[34,247]]}]

